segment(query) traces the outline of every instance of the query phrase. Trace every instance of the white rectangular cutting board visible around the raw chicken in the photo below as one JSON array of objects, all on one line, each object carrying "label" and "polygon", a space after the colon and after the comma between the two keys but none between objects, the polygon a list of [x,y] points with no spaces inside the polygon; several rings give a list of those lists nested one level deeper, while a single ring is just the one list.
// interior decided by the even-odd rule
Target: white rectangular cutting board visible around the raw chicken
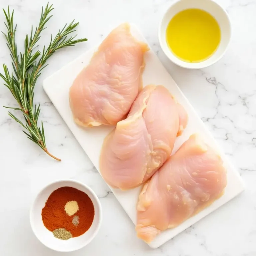
[{"label": "white rectangular cutting board visible around the raw chicken", "polygon": [[[147,43],[146,39],[136,28],[136,26],[131,25],[131,32],[133,36],[135,36],[138,40]],[[73,80],[78,75],[78,73],[86,65],[88,65],[94,51],[96,50],[97,47],[89,50],[65,67],[61,68],[50,77],[46,78],[43,81],[43,88],[58,112],[60,113],[60,115],[62,116],[63,120],[66,122],[71,132],[74,134],[75,138],[78,140],[96,169],[99,171],[99,157],[103,140],[114,127],[99,126],[94,128],[81,128],[77,126],[73,121],[72,113],[69,107],[68,95],[69,88],[72,85]],[[227,159],[223,151],[218,147],[211,133],[208,131],[200,117],[197,115],[193,107],[190,105],[184,94],[181,92],[177,84],[174,82],[170,74],[166,71],[166,69],[158,59],[157,55],[152,50],[148,51],[145,54],[145,63],[146,66],[143,72],[143,85],[164,85],[174,95],[177,101],[183,105],[189,116],[188,126],[185,129],[183,135],[176,140],[173,153],[184,141],[189,138],[191,134],[197,132],[203,136],[203,138],[209,145],[219,151],[224,161],[224,165],[227,168],[227,187],[225,189],[224,195],[216,200],[208,208],[186,220],[178,227],[168,229],[158,235],[151,243],[149,243],[150,247],[157,248],[174,236],[176,236],[177,234],[179,234],[180,232],[182,232],[183,230],[185,230],[186,228],[190,227],[195,222],[199,221],[209,213],[213,212],[214,210],[237,196],[244,190],[244,184],[237,170]],[[113,191],[114,195],[116,196],[117,200],[122,205],[128,216],[131,218],[132,222],[136,224],[136,204],[141,187],[131,189],[125,192],[119,189],[111,188],[111,190]],[[115,211],[115,209],[113,209],[113,211]],[[212,225],[216,224],[213,223]]]}]

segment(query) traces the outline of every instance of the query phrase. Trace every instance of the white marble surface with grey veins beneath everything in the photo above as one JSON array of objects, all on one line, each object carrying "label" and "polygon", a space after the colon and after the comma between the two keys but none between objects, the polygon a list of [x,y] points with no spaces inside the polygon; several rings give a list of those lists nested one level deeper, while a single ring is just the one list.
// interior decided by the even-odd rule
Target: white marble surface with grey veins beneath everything
[{"label": "white marble surface with grey veins beneath everything", "polygon": [[[21,127],[0,108],[0,255],[57,256],[32,233],[29,208],[36,193],[56,179],[74,178],[88,184],[100,197],[103,223],[97,237],[72,256],[255,256],[256,255],[256,0],[218,0],[228,11],[233,28],[226,55],[203,70],[185,70],[170,63],[162,53],[157,27],[172,0],[54,0],[54,16],[42,33],[40,45],[75,18],[80,37],[88,42],[58,52],[49,60],[35,90],[42,106],[49,151],[62,158],[49,158],[22,133]],[[17,42],[30,25],[38,23],[40,8],[47,0],[0,0],[15,9]],[[0,30],[4,31],[0,13]],[[93,168],[50,100],[41,82],[60,67],[86,51],[123,21],[138,25],[199,116],[237,166],[246,190],[158,249],[150,249],[136,238],[134,226],[107,185]],[[0,36],[0,63],[10,64],[5,39]],[[1,68],[2,71],[2,68]],[[15,104],[10,92],[0,85],[0,105]]]}]

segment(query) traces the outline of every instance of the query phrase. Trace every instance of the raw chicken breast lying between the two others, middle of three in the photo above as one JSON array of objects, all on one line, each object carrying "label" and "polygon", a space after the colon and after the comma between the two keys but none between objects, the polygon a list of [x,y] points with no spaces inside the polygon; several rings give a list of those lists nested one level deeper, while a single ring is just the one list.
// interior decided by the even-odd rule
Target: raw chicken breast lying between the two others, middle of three
[{"label": "raw chicken breast lying between the two others, middle of three", "polygon": [[[114,188],[127,190],[149,179],[170,156],[177,133],[179,113],[170,92],[148,85],[139,94],[125,120],[107,136],[100,157],[100,171]],[[187,118],[187,116],[186,116]],[[187,119],[183,120],[182,129]]]}]

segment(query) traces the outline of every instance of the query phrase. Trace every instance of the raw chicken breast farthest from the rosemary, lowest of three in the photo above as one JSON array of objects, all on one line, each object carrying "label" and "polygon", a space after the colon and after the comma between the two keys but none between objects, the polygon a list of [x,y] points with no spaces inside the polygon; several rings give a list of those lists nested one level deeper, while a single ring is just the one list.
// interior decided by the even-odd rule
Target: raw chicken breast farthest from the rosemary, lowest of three
[{"label": "raw chicken breast farthest from the rosemary, lowest of three", "polygon": [[198,135],[191,135],[153,175],[140,193],[136,231],[151,242],[218,199],[226,187],[220,156]]}]

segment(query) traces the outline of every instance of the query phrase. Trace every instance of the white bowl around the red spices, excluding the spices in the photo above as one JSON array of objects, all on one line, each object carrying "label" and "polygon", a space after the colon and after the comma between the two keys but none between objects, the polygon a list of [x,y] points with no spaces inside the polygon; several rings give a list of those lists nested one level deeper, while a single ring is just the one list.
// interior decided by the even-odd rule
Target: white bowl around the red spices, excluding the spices
[{"label": "white bowl around the red spices, excluding the spices", "polygon": [[[50,194],[61,187],[73,187],[86,193],[93,202],[94,219],[91,227],[81,236],[61,240],[53,236],[42,221],[42,209]],[[44,187],[37,195],[30,209],[30,224],[39,241],[48,248],[59,252],[71,252],[89,244],[99,231],[102,221],[102,210],[100,200],[91,188],[75,180],[59,180]]]}]

